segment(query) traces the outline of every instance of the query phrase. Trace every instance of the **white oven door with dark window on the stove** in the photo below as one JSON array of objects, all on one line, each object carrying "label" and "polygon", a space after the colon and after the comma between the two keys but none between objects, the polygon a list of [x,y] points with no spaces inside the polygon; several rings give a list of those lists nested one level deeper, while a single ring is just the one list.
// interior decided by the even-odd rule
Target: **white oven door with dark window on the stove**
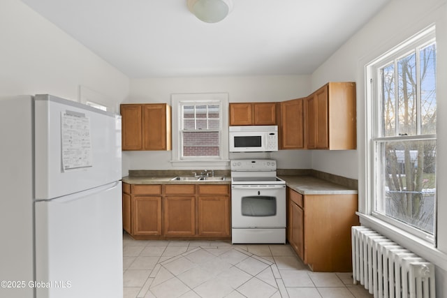
[{"label": "white oven door with dark window on the stove", "polygon": [[285,228],[286,186],[231,186],[233,228]]}]

